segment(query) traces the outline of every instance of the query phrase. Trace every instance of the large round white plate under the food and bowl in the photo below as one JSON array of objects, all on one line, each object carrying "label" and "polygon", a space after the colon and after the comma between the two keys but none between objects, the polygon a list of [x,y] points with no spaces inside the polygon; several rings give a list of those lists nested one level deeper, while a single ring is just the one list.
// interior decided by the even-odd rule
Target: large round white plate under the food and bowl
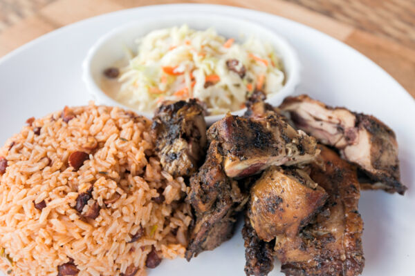
[{"label": "large round white plate under the food and bowl", "polygon": [[[149,6],[123,10],[66,26],[26,44],[0,61],[0,141],[18,132],[28,117],[41,117],[65,105],[89,100],[81,63],[91,45],[109,29],[142,17],[175,12],[216,12],[263,23],[297,48],[306,92],[331,105],[376,115],[398,137],[404,197],[365,191],[360,213],[365,221],[363,275],[414,275],[415,263],[415,101],[380,67],[343,43],[299,23],[262,12],[209,5]],[[244,275],[240,230],[214,251],[192,262],[163,261],[149,275]],[[279,263],[270,275],[281,275]]]}]

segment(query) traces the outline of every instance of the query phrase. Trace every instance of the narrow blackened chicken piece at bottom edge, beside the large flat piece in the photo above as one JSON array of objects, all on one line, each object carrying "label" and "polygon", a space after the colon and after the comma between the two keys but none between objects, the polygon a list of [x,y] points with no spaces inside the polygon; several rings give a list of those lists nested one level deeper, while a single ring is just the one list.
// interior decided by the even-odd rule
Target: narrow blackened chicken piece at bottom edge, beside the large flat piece
[{"label": "narrow blackened chicken piece at bottom edge, beside the large flat piece", "polygon": [[246,275],[268,275],[274,268],[273,245],[259,239],[247,216],[245,216],[242,236],[245,241]]}]

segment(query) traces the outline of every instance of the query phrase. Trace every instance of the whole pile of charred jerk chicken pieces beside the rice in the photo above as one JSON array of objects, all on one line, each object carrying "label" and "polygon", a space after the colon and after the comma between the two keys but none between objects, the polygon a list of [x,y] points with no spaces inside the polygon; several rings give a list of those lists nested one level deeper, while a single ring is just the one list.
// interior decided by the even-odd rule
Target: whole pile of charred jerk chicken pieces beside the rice
[{"label": "whole pile of charred jerk chicken pieces beside the rice", "polygon": [[374,117],[306,95],[286,98],[280,109],[264,99],[254,93],[243,117],[226,115],[207,131],[196,100],[165,102],[156,110],[152,135],[163,169],[190,177],[186,201],[194,221],[186,259],[232,237],[245,208],[247,275],[268,275],[274,257],[286,275],[360,274],[358,200],[365,186],[357,170],[382,183],[371,189],[403,195],[394,132]]}]

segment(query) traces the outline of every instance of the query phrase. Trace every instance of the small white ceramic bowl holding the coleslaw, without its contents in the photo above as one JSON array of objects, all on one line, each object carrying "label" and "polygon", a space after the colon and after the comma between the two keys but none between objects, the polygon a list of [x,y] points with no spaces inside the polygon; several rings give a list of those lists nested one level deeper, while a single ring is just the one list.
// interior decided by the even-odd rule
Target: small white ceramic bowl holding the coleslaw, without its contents
[{"label": "small white ceramic bowl holding the coleslaw, without its contents", "polygon": [[[241,41],[248,39],[249,37],[255,37],[260,41],[270,43],[282,57],[286,81],[283,88],[266,101],[276,106],[281,103],[284,97],[291,95],[291,93],[294,92],[295,87],[299,83],[300,66],[297,53],[285,39],[279,37],[278,34],[275,34],[275,32],[258,23],[252,23],[251,21],[244,19],[237,19],[219,14],[193,13],[175,14],[169,17],[163,16],[161,18],[154,17],[140,19],[115,28],[98,39],[89,50],[88,55],[86,55],[84,63],[82,64],[82,78],[86,84],[86,88],[89,90],[96,103],[131,109],[115,99],[112,99],[101,90],[99,83],[102,78],[102,72],[124,57],[125,47],[135,50],[137,48],[135,43],[136,39],[144,37],[152,30],[181,26],[184,23],[187,23],[190,28],[196,30],[205,30],[212,27],[224,37],[234,37],[237,40],[243,36]],[[242,115],[245,110],[245,108],[237,110],[232,112],[232,114]],[[151,113],[138,112],[138,110],[135,111],[140,115],[145,115],[149,118],[153,117]],[[213,124],[214,121],[221,119],[223,116],[224,114],[206,116],[206,123],[208,125]]]}]

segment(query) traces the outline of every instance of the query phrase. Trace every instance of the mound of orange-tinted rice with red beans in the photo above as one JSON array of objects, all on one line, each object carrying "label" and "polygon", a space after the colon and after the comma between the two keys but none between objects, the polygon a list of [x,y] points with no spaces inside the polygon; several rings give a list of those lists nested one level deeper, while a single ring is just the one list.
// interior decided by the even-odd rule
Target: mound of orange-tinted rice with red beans
[{"label": "mound of orange-tinted rice with red beans", "polygon": [[[80,276],[146,275],[151,250],[183,257],[192,220],[181,200],[186,186],[161,170],[150,126],[91,103],[28,120],[8,139],[0,149],[0,269],[57,275],[69,264]],[[86,152],[78,170],[77,151]],[[82,194],[89,197],[78,211]],[[97,217],[87,215],[94,210]]]}]

